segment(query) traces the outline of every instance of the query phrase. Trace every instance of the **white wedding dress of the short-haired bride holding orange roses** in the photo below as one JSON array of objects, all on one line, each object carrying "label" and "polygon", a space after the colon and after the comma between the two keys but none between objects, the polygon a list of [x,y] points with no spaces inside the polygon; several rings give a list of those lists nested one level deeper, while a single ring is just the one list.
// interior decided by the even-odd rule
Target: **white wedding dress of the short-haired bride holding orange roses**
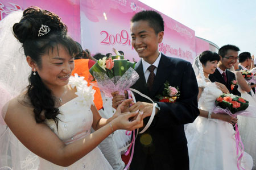
[{"label": "white wedding dress of the short-haired bride holding orange roses", "polygon": [[[214,101],[222,92],[213,82],[205,82],[199,78],[199,87],[203,88],[199,99],[199,108],[212,111]],[[236,140],[233,126],[218,119],[197,117],[185,128],[188,140],[189,167],[192,170],[234,170],[237,168]],[[243,153],[241,166],[251,169],[253,160]]]}]

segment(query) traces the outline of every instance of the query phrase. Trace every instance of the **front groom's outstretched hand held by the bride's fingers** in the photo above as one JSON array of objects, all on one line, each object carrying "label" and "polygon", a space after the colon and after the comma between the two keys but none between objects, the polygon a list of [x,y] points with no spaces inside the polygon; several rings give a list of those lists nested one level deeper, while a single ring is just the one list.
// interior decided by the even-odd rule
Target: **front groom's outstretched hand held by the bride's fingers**
[{"label": "front groom's outstretched hand held by the bride's fingers", "polygon": [[[135,112],[139,110],[140,112],[143,112],[142,118],[150,117],[153,110],[153,103],[147,103],[147,102],[137,102],[133,106],[129,108],[130,112]],[[156,113],[158,112],[158,109],[156,109]]]}]

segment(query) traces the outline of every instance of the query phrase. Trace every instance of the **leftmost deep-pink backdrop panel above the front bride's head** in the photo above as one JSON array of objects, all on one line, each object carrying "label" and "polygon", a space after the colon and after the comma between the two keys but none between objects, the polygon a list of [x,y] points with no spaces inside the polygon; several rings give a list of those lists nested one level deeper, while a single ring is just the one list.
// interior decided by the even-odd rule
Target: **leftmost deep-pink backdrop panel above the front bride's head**
[{"label": "leftmost deep-pink backdrop panel above the front bride's head", "polygon": [[80,0],[0,0],[0,20],[12,11],[24,10],[30,6],[38,6],[59,15],[68,26],[69,35],[80,42]]}]

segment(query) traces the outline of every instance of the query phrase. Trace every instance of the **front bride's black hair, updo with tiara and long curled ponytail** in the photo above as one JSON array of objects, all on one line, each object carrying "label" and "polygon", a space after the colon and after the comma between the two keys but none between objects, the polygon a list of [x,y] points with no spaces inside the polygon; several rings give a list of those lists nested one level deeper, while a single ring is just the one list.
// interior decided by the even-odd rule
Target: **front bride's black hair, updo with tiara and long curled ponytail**
[{"label": "front bride's black hair, updo with tiara and long curled ponytail", "polygon": [[[43,26],[47,26],[49,31],[46,31],[47,34],[43,31],[43,35],[39,35],[39,30]],[[67,36],[67,26],[61,22],[59,16],[38,7],[24,10],[20,22],[13,26],[13,32],[22,43],[25,55],[30,56],[39,69],[42,68],[42,55],[57,49],[57,45],[66,48],[71,56],[78,52],[76,43]],[[36,122],[53,119],[57,124],[56,115],[59,114],[59,109],[51,90],[44,85],[38,73],[33,75],[31,72],[28,81],[30,84],[27,87],[27,96],[34,107]]]}]

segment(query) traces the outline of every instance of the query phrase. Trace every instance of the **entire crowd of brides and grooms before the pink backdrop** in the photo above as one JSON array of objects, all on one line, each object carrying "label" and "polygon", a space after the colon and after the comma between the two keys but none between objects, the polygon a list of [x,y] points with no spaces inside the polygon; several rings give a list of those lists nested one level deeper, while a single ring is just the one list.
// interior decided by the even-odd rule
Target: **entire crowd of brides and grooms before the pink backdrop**
[{"label": "entire crowd of brides and grooms before the pink backdrop", "polygon": [[[139,79],[131,88],[152,103],[137,93],[137,102],[126,92],[110,98],[92,86],[89,69],[113,54],[92,56],[50,11],[11,13],[0,35],[0,169],[256,169],[256,85],[241,74],[256,72],[254,55],[238,55],[236,45],[204,51],[193,64],[168,57],[158,49],[162,16],[135,14],[131,44],[141,60],[133,58]],[[166,102],[158,96],[167,82],[177,95]],[[254,118],[214,113],[223,93],[249,101]],[[236,124],[244,151],[237,151]]]}]

